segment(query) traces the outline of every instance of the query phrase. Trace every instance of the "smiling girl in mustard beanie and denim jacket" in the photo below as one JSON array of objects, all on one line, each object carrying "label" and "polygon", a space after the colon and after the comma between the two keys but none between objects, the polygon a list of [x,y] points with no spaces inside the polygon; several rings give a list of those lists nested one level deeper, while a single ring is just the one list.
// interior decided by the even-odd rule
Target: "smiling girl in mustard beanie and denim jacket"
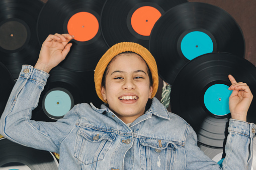
[{"label": "smiling girl in mustard beanie and denim jacket", "polygon": [[[49,35],[35,67],[24,65],[1,118],[1,131],[17,143],[60,153],[59,169],[250,169],[255,124],[246,122],[252,94],[229,75],[232,119],[220,167],[197,146],[193,128],[154,98],[157,67],[136,43],[111,47],[95,69],[101,108],[75,105],[57,122],[30,120],[49,71],[70,50],[73,37]],[[189,82],[188,82],[189,85]],[[90,97],[90,96],[88,96]]]}]

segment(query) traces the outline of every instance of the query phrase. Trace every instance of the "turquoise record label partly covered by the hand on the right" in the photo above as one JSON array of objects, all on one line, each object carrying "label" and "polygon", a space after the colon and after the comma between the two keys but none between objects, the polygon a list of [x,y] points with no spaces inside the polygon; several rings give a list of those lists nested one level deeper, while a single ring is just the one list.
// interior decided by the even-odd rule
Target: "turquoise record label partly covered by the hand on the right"
[{"label": "turquoise record label partly covered by the hand on the right", "polygon": [[206,90],[204,104],[212,114],[224,116],[230,113],[228,101],[232,91],[228,88],[225,84],[214,84]]}]

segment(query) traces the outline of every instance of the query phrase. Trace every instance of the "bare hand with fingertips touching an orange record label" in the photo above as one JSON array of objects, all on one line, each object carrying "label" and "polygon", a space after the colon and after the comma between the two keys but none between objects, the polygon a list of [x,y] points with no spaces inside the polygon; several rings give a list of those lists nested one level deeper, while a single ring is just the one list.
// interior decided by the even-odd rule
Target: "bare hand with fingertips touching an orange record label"
[{"label": "bare hand with fingertips touching an orange record label", "polygon": [[69,34],[49,35],[44,41],[35,68],[47,73],[65,59],[74,37]]}]

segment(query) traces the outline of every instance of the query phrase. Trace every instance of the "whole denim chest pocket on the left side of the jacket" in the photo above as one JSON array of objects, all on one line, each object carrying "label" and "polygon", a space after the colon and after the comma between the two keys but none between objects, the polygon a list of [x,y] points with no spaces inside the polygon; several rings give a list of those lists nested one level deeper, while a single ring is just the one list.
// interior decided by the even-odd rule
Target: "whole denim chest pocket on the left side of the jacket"
[{"label": "whole denim chest pocket on the left side of the jacket", "polygon": [[76,137],[74,157],[84,164],[103,160],[115,138],[116,133],[81,126]]}]

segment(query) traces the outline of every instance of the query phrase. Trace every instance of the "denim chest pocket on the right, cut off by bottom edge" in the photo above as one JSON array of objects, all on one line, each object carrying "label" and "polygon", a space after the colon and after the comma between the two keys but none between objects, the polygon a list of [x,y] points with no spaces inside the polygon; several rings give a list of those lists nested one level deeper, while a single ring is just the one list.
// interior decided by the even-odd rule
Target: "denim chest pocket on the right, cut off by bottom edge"
[{"label": "denim chest pocket on the right, cut off by bottom edge", "polygon": [[173,169],[177,148],[172,141],[140,138],[141,168]]}]

